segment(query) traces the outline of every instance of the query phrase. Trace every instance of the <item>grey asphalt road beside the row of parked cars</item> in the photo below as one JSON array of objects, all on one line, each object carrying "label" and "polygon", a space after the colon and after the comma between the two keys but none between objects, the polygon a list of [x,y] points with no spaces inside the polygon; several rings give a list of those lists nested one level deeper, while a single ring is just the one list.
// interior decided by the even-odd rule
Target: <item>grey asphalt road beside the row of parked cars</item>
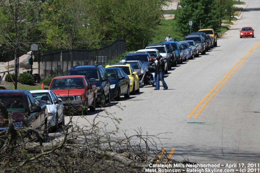
[{"label": "grey asphalt road beside the row of parked cars", "polygon": [[[129,99],[112,102],[113,106],[105,109],[122,119],[118,136],[142,127],[150,135],[162,133],[160,137],[165,139],[158,146],[168,152],[174,148],[172,159],[178,161],[187,157],[198,163],[259,163],[259,23],[259,0],[250,0],[237,25],[218,39],[218,47],[165,75],[168,90],[145,86]],[[255,38],[239,38],[244,26],[255,29]],[[121,110],[117,106],[125,107]],[[110,116],[99,108],[89,112],[87,119],[92,121],[98,112]],[[108,131],[115,130],[109,119],[98,120],[108,123]],[[81,117],[73,121],[87,123]]]}]

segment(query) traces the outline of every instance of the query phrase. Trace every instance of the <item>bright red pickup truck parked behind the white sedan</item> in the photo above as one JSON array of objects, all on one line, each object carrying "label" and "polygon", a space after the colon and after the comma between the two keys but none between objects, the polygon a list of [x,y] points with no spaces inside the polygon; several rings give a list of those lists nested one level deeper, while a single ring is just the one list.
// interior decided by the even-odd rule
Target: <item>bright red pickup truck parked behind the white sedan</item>
[{"label": "bright red pickup truck parked behind the white sedan", "polygon": [[91,85],[86,76],[58,76],[52,79],[49,86],[58,98],[62,99],[65,110],[82,112],[96,110],[96,85]]}]

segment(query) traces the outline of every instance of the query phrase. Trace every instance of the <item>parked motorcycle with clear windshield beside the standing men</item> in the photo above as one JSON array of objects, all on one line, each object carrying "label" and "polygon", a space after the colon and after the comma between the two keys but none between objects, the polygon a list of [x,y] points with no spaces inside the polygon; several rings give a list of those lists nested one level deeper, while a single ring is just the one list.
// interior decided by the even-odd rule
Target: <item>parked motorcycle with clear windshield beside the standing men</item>
[{"label": "parked motorcycle with clear windshield beside the standing men", "polygon": [[139,87],[142,88],[145,85],[152,85],[154,86],[153,82],[153,74],[151,73],[151,69],[152,67],[148,67],[149,62],[144,63],[141,70],[140,70],[140,74],[139,76]]}]

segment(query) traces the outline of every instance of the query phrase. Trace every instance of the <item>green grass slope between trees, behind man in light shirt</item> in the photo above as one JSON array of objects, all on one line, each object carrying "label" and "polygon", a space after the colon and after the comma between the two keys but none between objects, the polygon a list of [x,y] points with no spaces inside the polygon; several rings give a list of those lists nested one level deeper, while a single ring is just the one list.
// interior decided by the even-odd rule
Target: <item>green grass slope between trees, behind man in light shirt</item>
[{"label": "green grass slope between trees, behind man in light shirt", "polygon": [[171,35],[172,39],[180,38],[183,40],[183,36],[178,35],[176,32],[173,31],[172,26],[175,24],[175,20],[162,20],[160,25],[158,26],[157,32],[155,33],[155,37],[153,37],[151,43],[159,43],[164,41],[164,39]]}]

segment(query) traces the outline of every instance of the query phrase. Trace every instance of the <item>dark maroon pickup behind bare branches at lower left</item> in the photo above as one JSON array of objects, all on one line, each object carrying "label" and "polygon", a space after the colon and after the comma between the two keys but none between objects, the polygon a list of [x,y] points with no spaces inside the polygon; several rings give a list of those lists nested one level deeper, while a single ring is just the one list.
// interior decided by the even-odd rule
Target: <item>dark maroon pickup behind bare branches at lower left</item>
[{"label": "dark maroon pickup behind bare branches at lower left", "polygon": [[[28,90],[0,90],[0,101],[11,114],[13,125],[17,128],[30,127],[43,134],[44,142],[48,136],[48,111],[46,104],[37,104]],[[8,122],[0,118],[0,131],[8,128]],[[29,133],[27,136],[34,135]]]}]

